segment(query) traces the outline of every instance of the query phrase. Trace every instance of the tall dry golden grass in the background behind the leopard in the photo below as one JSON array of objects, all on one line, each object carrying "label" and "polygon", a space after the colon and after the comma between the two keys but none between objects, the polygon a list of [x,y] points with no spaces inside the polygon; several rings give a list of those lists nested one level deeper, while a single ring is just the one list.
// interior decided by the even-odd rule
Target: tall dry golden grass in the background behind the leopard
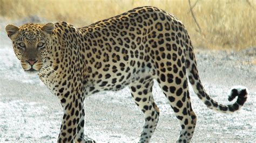
[{"label": "tall dry golden grass in the background behind the leopard", "polygon": [[[192,5],[195,2],[191,0]],[[143,5],[157,6],[178,17],[187,27],[195,47],[242,49],[256,46],[255,0],[199,0],[193,12],[201,33],[189,12],[187,0],[0,0],[0,16],[22,19],[36,15],[51,22],[66,21],[79,27]]]}]

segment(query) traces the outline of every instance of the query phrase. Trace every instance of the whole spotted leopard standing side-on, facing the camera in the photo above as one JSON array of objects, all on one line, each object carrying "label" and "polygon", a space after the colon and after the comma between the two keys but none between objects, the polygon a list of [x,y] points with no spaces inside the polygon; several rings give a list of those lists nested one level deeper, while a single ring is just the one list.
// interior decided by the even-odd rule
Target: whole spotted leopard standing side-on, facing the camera
[{"label": "whole spotted leopard standing side-on, facing the camera", "polygon": [[[56,95],[64,115],[57,142],[95,142],[84,134],[86,97],[129,87],[144,115],[139,142],[149,142],[159,120],[152,95],[158,84],[179,120],[177,142],[190,142],[196,127],[188,83],[217,112],[233,113],[246,102],[248,89],[231,88],[228,105],[216,102],[200,81],[192,42],[183,23],[154,6],[76,28],[67,22],[5,26],[25,73],[37,74]],[[103,103],[104,104],[104,103]]]}]

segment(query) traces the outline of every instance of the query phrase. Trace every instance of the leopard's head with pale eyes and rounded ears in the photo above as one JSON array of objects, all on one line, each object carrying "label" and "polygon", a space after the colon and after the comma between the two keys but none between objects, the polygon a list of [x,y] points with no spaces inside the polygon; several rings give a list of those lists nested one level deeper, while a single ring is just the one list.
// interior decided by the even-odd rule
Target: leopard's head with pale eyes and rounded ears
[{"label": "leopard's head with pale eyes and rounded ears", "polygon": [[50,55],[53,23],[6,25],[5,31],[12,40],[12,46],[22,68],[28,73],[37,73]]}]

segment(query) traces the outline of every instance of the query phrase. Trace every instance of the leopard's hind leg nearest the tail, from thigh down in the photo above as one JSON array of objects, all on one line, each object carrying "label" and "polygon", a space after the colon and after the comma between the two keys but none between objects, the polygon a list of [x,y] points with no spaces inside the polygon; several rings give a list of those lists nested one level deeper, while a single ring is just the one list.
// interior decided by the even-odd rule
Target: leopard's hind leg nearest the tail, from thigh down
[{"label": "leopard's hind leg nearest the tail, from thigh down", "polygon": [[175,77],[174,74],[167,75],[166,81],[158,78],[158,83],[181,126],[177,142],[190,142],[196,127],[197,116],[192,110],[187,78]]}]

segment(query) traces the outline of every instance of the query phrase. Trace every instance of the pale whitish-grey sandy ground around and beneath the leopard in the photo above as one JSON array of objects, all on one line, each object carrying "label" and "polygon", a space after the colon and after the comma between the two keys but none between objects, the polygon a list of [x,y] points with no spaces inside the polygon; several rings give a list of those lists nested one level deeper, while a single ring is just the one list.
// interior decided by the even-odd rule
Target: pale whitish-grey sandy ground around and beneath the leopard
[{"label": "pale whitish-grey sandy ground around and beneath the leopard", "polygon": [[[15,24],[25,23],[25,19]],[[0,18],[0,142],[56,142],[63,111],[54,95],[37,76],[26,75],[12,51]],[[192,142],[256,141],[256,48],[240,52],[197,49],[201,81],[208,94],[223,104],[233,85],[244,85],[249,98],[232,115],[207,109],[191,91],[191,101],[198,115]],[[160,119],[152,142],[174,142],[180,125],[157,85],[154,98]],[[254,104],[253,104],[254,103]],[[143,126],[143,114],[133,103],[130,91],[102,92],[85,100],[85,134],[98,142],[134,142]]]}]

